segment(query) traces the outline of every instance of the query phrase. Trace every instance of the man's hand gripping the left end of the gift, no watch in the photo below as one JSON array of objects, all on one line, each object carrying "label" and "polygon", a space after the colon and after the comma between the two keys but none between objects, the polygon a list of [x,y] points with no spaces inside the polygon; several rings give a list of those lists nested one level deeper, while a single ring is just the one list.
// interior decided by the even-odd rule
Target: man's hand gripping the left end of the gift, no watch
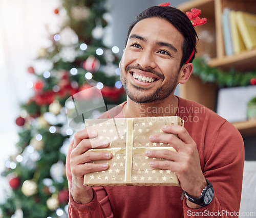
[{"label": "man's hand gripping the left end of the gift, no watch", "polygon": [[[89,186],[83,185],[83,176],[91,172],[104,171],[109,164],[88,163],[92,160],[108,160],[112,158],[111,153],[90,152],[92,149],[90,138],[97,136],[96,131],[81,130],[74,135],[73,150],[70,154],[70,168],[72,174],[71,193],[75,202],[87,204],[93,199],[93,191]],[[109,143],[102,140],[94,140],[94,148],[106,148]]]}]

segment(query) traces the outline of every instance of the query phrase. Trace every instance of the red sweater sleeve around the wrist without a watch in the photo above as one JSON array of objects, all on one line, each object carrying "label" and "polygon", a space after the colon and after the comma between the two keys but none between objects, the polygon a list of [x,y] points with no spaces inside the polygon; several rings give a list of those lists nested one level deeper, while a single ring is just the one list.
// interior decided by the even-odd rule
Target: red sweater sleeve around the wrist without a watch
[{"label": "red sweater sleeve around the wrist without a watch", "polygon": [[69,217],[113,217],[113,212],[111,209],[109,197],[104,189],[104,187],[93,188],[93,200],[88,204],[78,204],[73,200],[71,195],[72,186],[72,174],[70,168],[70,153],[73,148],[73,140],[70,143],[67,158],[66,158],[66,174],[69,184],[69,205],[68,214]]}]

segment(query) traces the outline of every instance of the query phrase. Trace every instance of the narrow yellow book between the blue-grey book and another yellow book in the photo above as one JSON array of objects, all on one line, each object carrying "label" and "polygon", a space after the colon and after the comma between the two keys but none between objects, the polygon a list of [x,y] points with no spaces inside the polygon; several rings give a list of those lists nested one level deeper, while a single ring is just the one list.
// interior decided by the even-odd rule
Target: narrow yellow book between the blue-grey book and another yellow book
[{"label": "narrow yellow book between the blue-grey book and another yellow book", "polygon": [[230,10],[229,20],[230,20],[230,30],[231,30],[231,36],[232,36],[233,51],[234,51],[234,54],[239,54],[242,51],[246,50],[246,47],[245,47],[245,43],[242,38],[241,32],[238,28],[237,11]]}]

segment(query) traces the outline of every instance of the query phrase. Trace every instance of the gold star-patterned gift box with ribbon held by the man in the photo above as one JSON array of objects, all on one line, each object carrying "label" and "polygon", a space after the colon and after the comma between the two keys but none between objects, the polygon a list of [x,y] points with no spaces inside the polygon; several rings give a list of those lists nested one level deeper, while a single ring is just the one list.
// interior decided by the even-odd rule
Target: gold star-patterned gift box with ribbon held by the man
[{"label": "gold star-patterned gift box with ribbon held by the man", "polygon": [[[166,169],[153,168],[152,160],[145,155],[147,150],[176,150],[166,143],[151,142],[150,135],[167,134],[161,130],[164,125],[183,126],[183,120],[178,116],[136,117],[86,119],[85,128],[96,130],[98,135],[92,138],[94,149],[90,152],[111,152],[110,160],[95,160],[92,163],[108,163],[106,171],[93,172],[84,175],[84,185],[87,186],[179,186],[177,175]],[[110,142],[105,149],[97,149],[96,140]]]}]

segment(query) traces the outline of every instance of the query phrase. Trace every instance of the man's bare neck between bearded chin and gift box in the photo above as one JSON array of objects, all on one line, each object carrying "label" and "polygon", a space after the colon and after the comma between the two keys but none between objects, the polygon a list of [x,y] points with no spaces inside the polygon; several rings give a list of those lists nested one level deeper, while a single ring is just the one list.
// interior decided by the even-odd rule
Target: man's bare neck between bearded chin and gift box
[{"label": "man's bare neck between bearded chin and gift box", "polygon": [[127,103],[123,107],[125,118],[147,116],[175,116],[179,100],[174,94],[160,101],[150,103],[135,103],[127,96]]}]

